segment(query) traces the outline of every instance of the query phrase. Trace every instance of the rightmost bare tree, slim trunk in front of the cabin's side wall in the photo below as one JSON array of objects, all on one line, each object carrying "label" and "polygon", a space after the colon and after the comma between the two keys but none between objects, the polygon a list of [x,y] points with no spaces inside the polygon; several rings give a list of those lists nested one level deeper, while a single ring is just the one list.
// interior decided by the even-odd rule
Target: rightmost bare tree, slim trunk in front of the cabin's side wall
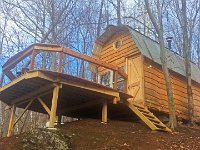
[{"label": "rightmost bare tree, slim trunk in front of the cabin's side wall", "polygon": [[[183,57],[185,59],[185,74],[187,81],[187,98],[188,98],[188,114],[189,114],[189,123],[191,125],[195,124],[194,120],[194,102],[192,95],[192,74],[191,74],[191,61],[192,61],[192,48],[193,45],[193,37],[195,26],[197,25],[197,17],[200,11],[200,1],[185,1],[181,0],[181,2],[174,0],[173,1],[174,14],[176,14],[176,21],[179,23],[179,30],[181,31],[181,36],[179,40],[181,41],[181,50]],[[190,8],[191,7],[191,8]],[[179,31],[179,32],[180,32]],[[197,30],[198,32],[198,30]],[[197,43],[198,44],[198,43]]]}]

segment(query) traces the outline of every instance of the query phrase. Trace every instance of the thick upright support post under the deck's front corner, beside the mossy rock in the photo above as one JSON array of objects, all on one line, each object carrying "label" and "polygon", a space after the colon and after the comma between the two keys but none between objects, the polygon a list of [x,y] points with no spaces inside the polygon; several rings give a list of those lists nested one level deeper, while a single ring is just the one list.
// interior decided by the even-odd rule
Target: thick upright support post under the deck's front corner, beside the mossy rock
[{"label": "thick upright support post under the deck's front corner, beside the mossy rock", "polygon": [[60,88],[59,85],[57,85],[53,90],[49,128],[54,128],[54,123],[56,121],[56,110],[57,110],[59,88]]}]

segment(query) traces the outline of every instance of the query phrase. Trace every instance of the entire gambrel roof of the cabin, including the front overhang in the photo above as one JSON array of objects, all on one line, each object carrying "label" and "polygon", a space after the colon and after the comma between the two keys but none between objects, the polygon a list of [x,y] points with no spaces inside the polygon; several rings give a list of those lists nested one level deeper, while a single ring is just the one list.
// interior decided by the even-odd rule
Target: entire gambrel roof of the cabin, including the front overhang
[{"label": "entire gambrel roof of the cabin, including the front overhang", "polygon": [[[153,60],[158,64],[161,64],[159,43],[126,25],[108,26],[106,28],[106,31],[97,39],[96,43],[104,44],[106,43],[105,41],[109,40],[110,37],[116,34],[116,32],[127,31],[127,30],[128,32],[130,32],[134,42],[136,43],[142,55]],[[183,59],[183,57],[175,54],[174,52],[170,51],[167,48],[166,51],[167,51],[168,68],[185,76],[185,60]],[[191,62],[191,72],[192,72],[192,79],[200,83],[200,69],[196,64],[192,62]]]}]

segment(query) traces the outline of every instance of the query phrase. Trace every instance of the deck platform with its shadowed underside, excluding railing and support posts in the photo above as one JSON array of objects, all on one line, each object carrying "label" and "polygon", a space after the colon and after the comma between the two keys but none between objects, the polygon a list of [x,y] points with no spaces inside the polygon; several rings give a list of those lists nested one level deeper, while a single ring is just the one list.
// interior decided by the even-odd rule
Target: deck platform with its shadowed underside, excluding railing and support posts
[{"label": "deck platform with its shadowed underside, excluding railing and support posts", "polygon": [[0,89],[0,99],[8,105],[15,104],[19,108],[26,108],[33,100],[28,110],[47,114],[38,99],[50,108],[56,85],[60,88],[57,115],[87,117],[93,114],[96,117],[101,115],[102,103],[105,100],[112,104],[131,97],[95,82],[57,72],[38,70],[27,72],[3,86]]}]

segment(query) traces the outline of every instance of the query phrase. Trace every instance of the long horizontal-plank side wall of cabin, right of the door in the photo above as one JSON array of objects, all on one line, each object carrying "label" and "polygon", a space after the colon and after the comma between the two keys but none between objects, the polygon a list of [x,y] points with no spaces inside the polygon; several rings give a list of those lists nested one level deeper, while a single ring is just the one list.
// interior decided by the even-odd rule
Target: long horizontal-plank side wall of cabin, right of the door
[{"label": "long horizontal-plank side wall of cabin, right of the door", "polygon": [[[170,71],[177,116],[188,119],[186,79]],[[145,103],[148,107],[168,113],[168,99],[161,66],[149,59],[144,61]],[[193,84],[195,119],[200,121],[200,84]]]}]

